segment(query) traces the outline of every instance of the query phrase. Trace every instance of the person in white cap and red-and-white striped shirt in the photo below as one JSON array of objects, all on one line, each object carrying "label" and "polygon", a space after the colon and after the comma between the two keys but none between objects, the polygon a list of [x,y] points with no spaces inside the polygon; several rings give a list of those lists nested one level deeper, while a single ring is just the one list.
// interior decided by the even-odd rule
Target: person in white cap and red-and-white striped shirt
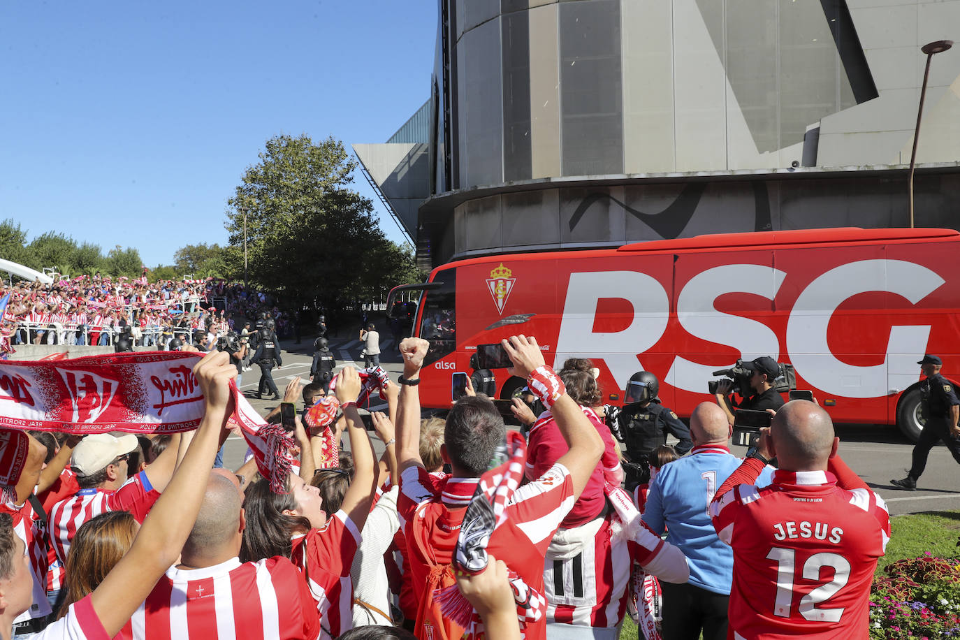
[{"label": "person in white cap and red-and-white striped shirt", "polygon": [[[173,439],[179,444],[180,435]],[[130,511],[137,522],[143,522],[170,482],[177,462],[177,446],[169,447],[128,482],[128,458],[138,445],[132,434],[120,438],[95,434],[85,437],[73,450],[70,466],[77,474],[80,490],[54,505],[48,523],[57,558],[64,565],[70,541],[84,522],[113,510]]]}]

